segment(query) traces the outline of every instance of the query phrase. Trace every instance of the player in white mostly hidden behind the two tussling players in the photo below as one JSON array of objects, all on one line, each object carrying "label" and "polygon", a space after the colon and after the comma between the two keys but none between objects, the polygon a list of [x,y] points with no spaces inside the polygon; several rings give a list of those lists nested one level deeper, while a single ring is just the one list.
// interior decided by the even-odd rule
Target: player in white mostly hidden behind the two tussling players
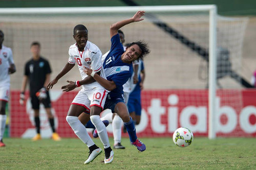
[{"label": "player in white mostly hidden behind the two tussling players", "polygon": [[[120,36],[120,40],[122,44],[125,42],[124,39],[124,33],[121,30],[118,30],[118,34]],[[125,51],[126,46],[123,46],[123,50]],[[109,54],[110,51],[106,52],[101,57],[102,63],[104,62],[106,56]],[[133,62],[133,68],[134,68],[134,75],[137,76],[138,72],[138,62]],[[124,93],[124,102],[127,104],[129,100],[129,94],[131,92],[132,84],[136,84],[138,82],[138,77],[134,76],[133,79],[129,79],[124,85],[123,85],[123,93]],[[108,120],[109,123],[112,123],[113,128],[113,136],[114,136],[114,149],[125,149],[125,147],[121,144],[121,128],[122,128],[122,119],[118,116],[116,113],[112,113],[110,109],[104,110],[105,115],[101,117],[101,120]],[[125,127],[124,127],[125,128]],[[125,129],[126,130],[126,129]],[[98,137],[97,130],[95,129],[93,131],[93,137]]]}]

